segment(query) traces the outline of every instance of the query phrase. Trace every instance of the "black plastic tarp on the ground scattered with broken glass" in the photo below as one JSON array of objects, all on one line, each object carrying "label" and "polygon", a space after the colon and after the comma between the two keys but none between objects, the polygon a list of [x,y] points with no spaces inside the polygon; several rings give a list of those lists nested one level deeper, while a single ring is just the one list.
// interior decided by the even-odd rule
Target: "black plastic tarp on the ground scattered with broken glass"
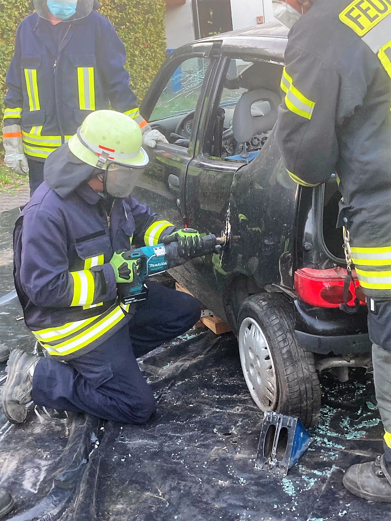
[{"label": "black plastic tarp on the ground scattered with broken glass", "polygon": [[[10,247],[15,218],[9,213],[6,221],[4,214],[0,259]],[[11,289],[11,264],[0,275],[1,296]],[[33,350],[33,338],[16,320],[20,316],[17,300],[0,304],[0,341]],[[190,331],[140,359],[140,365],[158,401],[144,426],[42,407],[32,408],[22,426],[11,426],[0,413],[0,486],[17,502],[8,519],[391,517],[391,505],[355,498],[342,485],[351,464],[370,461],[382,450],[372,375],[352,370],[347,383],[322,376],[322,414],[311,429],[310,449],[286,478],[277,478],[254,468],[262,413],[242,377],[233,336]]]}]

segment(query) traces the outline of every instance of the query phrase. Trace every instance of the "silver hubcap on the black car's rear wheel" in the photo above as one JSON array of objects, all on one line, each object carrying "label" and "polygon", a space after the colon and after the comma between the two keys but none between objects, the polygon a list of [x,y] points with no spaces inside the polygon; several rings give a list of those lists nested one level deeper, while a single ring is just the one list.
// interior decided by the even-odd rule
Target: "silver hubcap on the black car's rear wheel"
[{"label": "silver hubcap on the black car's rear wheel", "polygon": [[277,403],[277,378],[269,344],[258,322],[245,318],[239,329],[239,353],[250,394],[262,411]]}]

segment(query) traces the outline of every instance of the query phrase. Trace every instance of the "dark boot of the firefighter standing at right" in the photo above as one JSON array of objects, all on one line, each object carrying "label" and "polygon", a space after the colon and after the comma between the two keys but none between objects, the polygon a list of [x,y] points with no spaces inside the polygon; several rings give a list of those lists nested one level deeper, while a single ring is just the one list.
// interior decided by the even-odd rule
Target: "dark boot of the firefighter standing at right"
[{"label": "dark boot of the firefighter standing at right", "polygon": [[375,461],[359,463],[348,468],[343,482],[344,487],[359,498],[391,503],[391,475],[384,454],[377,456]]}]

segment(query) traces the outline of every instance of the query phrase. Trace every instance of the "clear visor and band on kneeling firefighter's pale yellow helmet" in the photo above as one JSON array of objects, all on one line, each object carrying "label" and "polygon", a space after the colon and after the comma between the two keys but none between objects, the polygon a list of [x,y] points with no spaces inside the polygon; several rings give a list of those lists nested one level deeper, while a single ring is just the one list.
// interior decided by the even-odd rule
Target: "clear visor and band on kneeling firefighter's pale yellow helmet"
[{"label": "clear visor and band on kneeling firefighter's pale yellow helmet", "polygon": [[[91,152],[96,154],[90,143],[83,138],[80,127],[77,130],[77,135],[80,142],[88,148]],[[143,175],[145,166],[149,163],[148,155],[144,153],[144,161],[141,165],[129,165],[121,162],[121,157],[113,158],[115,156],[131,156],[133,154],[114,154],[105,150],[100,151],[99,157],[96,160],[96,168],[100,168],[102,173],[97,177],[103,182],[103,189],[113,197],[124,199],[129,197],[133,189],[136,187],[141,176]],[[135,156],[139,153],[134,154]],[[131,159],[131,157],[122,157],[123,159]]]}]

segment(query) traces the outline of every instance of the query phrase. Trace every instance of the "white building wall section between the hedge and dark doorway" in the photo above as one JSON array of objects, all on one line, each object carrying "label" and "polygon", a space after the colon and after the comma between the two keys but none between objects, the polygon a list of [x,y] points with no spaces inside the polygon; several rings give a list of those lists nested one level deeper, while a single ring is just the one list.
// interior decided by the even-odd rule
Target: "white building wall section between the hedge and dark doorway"
[{"label": "white building wall section between the hedge and dark doorway", "polygon": [[167,7],[165,26],[167,49],[176,49],[181,45],[193,42],[196,36],[191,0],[186,0],[186,4],[178,7]]}]

